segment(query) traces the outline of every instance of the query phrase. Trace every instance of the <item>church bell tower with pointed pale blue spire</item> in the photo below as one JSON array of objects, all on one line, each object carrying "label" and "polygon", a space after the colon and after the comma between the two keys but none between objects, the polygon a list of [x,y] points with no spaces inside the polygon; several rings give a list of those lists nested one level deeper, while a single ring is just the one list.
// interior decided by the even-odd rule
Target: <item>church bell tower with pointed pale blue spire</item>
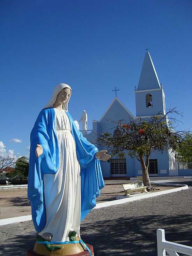
[{"label": "church bell tower with pointed pale blue spire", "polygon": [[146,52],[138,87],[135,88],[136,117],[165,114],[165,94],[149,52]]}]

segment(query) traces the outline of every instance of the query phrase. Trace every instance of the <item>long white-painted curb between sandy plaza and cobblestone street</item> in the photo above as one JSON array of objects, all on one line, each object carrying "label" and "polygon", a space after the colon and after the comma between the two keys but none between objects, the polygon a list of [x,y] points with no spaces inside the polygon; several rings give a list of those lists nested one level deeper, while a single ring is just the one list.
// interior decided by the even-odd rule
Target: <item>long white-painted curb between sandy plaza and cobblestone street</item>
[{"label": "long white-painted curb between sandy plaza and cobblestone street", "polygon": [[[151,184],[153,184],[153,182],[151,182]],[[185,184],[173,184],[173,183],[163,183],[163,182],[162,183],[154,182],[154,184],[156,184],[156,185],[157,184],[165,185],[165,186],[176,186],[176,187],[179,187],[179,188],[168,189],[168,190],[153,192],[153,193],[142,193],[141,195],[138,195],[138,196],[135,195],[133,197],[127,197],[127,198],[113,200],[113,201],[109,201],[109,202],[98,203],[93,208],[93,210],[103,208],[103,207],[112,206],[112,205],[118,205],[118,204],[133,202],[133,201],[140,200],[140,199],[143,199],[143,198],[155,197],[155,196],[165,195],[165,194],[169,194],[169,193],[172,193],[172,192],[188,189],[188,186],[185,185]],[[16,222],[28,221],[28,220],[32,220],[31,215],[24,215],[24,216],[19,216],[19,217],[14,217],[14,218],[1,219],[0,220],[0,226],[7,225],[7,224],[13,224],[13,223],[16,223]]]}]

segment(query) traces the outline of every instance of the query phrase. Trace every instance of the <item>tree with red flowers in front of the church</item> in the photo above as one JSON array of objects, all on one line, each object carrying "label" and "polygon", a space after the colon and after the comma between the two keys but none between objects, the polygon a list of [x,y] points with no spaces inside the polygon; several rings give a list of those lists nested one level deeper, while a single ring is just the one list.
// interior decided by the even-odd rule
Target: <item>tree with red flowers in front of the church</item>
[{"label": "tree with red flowers in front of the church", "polygon": [[[175,151],[184,136],[183,131],[176,131],[173,123],[175,118],[167,118],[169,114],[182,116],[176,108],[170,109],[165,115],[159,112],[148,120],[136,118],[125,124],[123,120],[114,122],[116,132],[101,134],[97,143],[108,148],[113,155],[123,158],[125,154],[133,156],[141,163],[143,184],[153,189],[149,180],[149,156],[152,151]],[[113,122],[112,120],[110,120]],[[173,122],[174,121],[174,122]]]}]

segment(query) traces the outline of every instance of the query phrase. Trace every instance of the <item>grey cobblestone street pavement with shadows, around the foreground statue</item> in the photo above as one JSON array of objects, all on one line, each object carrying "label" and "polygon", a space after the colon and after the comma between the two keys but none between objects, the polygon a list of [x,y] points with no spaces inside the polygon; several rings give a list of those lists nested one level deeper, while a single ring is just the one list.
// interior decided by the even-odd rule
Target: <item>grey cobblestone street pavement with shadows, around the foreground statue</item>
[{"label": "grey cobblestone street pavement with shadows, around the foreground statue", "polygon": [[[81,223],[81,238],[95,256],[156,256],[156,229],[168,241],[192,246],[192,180],[178,178],[189,189],[91,211]],[[33,247],[32,221],[0,227],[0,254],[24,256]]]}]

